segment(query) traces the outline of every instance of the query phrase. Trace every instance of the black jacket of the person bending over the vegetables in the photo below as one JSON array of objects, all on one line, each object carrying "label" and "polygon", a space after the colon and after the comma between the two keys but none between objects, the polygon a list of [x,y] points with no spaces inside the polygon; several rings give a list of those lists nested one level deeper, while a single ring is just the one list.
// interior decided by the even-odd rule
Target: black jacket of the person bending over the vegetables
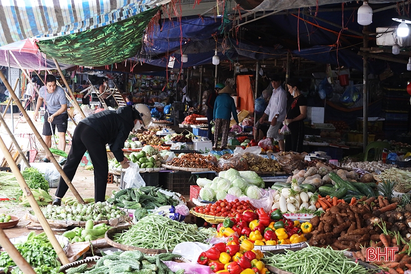
[{"label": "black jacket of the person bending over the vegetables", "polygon": [[[124,159],[124,142],[134,127],[133,113],[130,106],[120,107],[116,111],[104,110],[90,115],[80,123],[94,128],[108,144],[117,161]],[[93,138],[93,136],[90,136]]]}]

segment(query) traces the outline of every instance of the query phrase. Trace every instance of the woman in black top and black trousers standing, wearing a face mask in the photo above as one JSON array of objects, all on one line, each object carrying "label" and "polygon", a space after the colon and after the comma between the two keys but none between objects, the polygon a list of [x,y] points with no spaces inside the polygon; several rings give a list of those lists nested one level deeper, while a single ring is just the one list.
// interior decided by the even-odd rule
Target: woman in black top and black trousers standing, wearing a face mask
[{"label": "woman in black top and black trousers standing, wearing a face mask", "polygon": [[286,136],[285,150],[303,152],[304,122],[307,116],[307,99],[301,94],[301,83],[298,80],[290,80],[287,83],[288,92],[291,96],[291,104],[287,104],[286,122],[291,131],[290,136]]}]

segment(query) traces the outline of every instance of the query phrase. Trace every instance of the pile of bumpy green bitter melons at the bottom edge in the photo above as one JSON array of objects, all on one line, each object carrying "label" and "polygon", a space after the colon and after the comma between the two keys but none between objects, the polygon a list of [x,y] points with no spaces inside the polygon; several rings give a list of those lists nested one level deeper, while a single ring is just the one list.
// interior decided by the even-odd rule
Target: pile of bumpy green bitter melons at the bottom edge
[{"label": "pile of bumpy green bitter melons at the bottom edge", "polygon": [[176,254],[162,253],[155,256],[143,254],[138,250],[115,251],[112,255],[105,255],[97,263],[88,267],[87,263],[66,270],[66,274],[183,274],[184,270],[171,271],[163,260],[178,257]]}]

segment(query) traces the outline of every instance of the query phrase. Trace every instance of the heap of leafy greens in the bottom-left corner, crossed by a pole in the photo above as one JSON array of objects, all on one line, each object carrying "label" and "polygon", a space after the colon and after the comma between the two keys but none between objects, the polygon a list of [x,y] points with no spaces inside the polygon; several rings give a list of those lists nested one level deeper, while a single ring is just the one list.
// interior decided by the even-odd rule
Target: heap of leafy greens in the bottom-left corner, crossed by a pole
[{"label": "heap of leafy greens in the bottom-left corner, crossed by a pole", "polygon": [[[23,258],[33,266],[38,274],[60,274],[60,262],[57,253],[45,232],[36,235],[31,231],[24,242],[15,243],[17,250]],[[10,255],[4,251],[0,253],[0,270],[8,272],[9,267],[16,266]],[[15,274],[23,274],[18,267],[13,270]]]}]

